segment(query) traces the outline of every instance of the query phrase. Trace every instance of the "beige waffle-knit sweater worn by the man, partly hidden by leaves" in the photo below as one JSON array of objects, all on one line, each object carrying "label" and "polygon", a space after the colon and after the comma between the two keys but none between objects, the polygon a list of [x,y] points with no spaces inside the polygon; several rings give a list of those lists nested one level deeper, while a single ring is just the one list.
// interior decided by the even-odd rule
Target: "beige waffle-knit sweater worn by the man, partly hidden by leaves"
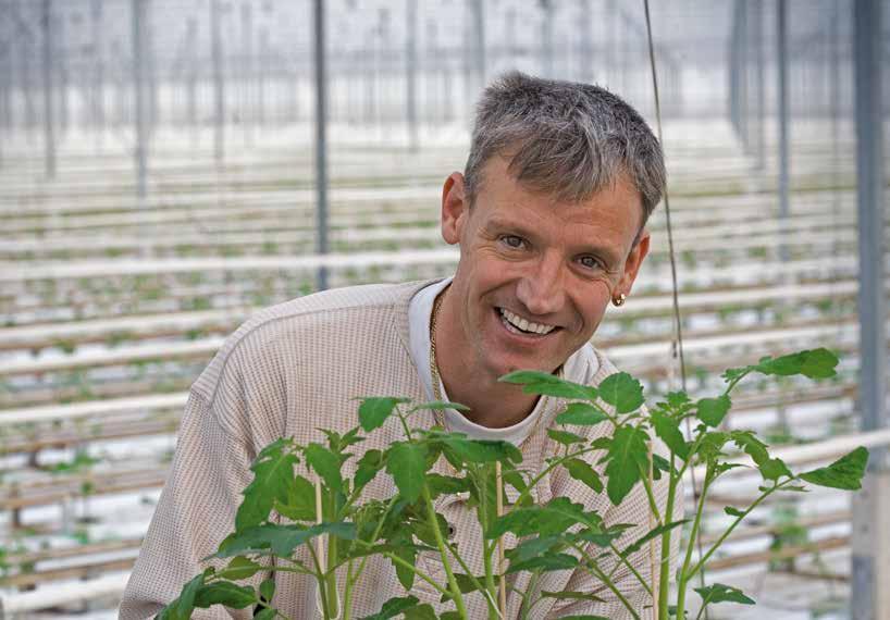
[{"label": "beige waffle-knit sweater worn by the man, partly hidden by leaves", "polygon": [[[360,286],[295,299],[257,313],[226,339],[191,386],[172,469],[124,593],[120,618],[153,616],[207,566],[201,558],[213,554],[233,531],[240,492],[251,480],[250,462],[263,446],[281,436],[293,436],[302,444],[322,442],[319,427],[344,432],[357,425],[357,404],[353,400],[357,396],[425,400],[409,354],[408,306],[412,295],[427,284]],[[577,351],[565,365],[567,379],[590,385],[614,372],[615,367],[591,346]],[[539,469],[552,454],[554,443],[545,430],[564,406],[559,399],[548,402],[542,423],[524,446],[526,468]],[[356,451],[401,438],[397,423],[390,422],[356,446]],[[415,422],[432,425],[433,420],[418,418]],[[590,427],[589,434],[595,437],[607,431],[607,424],[599,424]],[[597,457],[594,452],[591,462]],[[345,468],[355,467],[357,458]],[[442,473],[447,473],[444,467]],[[656,484],[657,501],[664,506],[666,486]],[[385,474],[366,487],[366,494],[375,497],[394,493],[392,479]],[[539,485],[536,499],[545,503],[556,496],[598,510],[608,523],[639,523],[619,544],[650,529],[647,503],[639,486],[619,507],[613,507],[605,494],[597,495],[559,472]],[[474,514],[460,498],[449,498],[437,510],[454,525],[461,555],[480,574],[480,533]],[[634,555],[632,562],[648,580],[648,549]],[[418,568],[445,583],[437,557],[421,555]],[[250,583],[267,576],[258,573]],[[312,582],[295,573],[280,573],[275,579],[274,603],[282,612],[295,620],[318,617]],[[641,617],[648,617],[650,611],[643,608],[651,599],[630,572],[619,568],[615,579]],[[514,586],[524,590],[528,575],[520,573]],[[534,618],[578,613],[630,618],[610,592],[581,571],[546,573],[540,588],[592,592],[608,603],[546,599],[534,608]],[[438,594],[423,582],[416,581],[411,594],[437,609],[447,608],[438,605]],[[390,562],[373,558],[355,591],[354,617],[374,613],[388,598],[404,595]],[[481,596],[469,595],[467,603],[470,618],[486,617]],[[520,604],[518,595],[509,596],[508,618],[517,617]],[[198,610],[194,617],[249,618],[250,610],[215,606]]]}]

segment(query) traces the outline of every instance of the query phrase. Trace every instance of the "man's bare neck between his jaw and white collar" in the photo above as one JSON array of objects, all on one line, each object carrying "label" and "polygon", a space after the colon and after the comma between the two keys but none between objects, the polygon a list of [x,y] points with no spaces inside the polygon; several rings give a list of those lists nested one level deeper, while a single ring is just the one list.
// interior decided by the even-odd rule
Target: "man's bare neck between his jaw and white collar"
[{"label": "man's bare neck between his jaw and white collar", "polygon": [[[456,335],[455,314],[448,305],[449,297],[440,294],[440,308],[434,309],[431,337],[437,343],[460,343]],[[448,399],[469,407],[462,414],[471,422],[490,429],[503,429],[518,424],[531,414],[537,402],[534,394],[524,394],[517,385],[499,383],[484,369],[475,368],[466,346],[438,346],[435,348],[435,365]],[[435,380],[434,380],[435,381]]]}]

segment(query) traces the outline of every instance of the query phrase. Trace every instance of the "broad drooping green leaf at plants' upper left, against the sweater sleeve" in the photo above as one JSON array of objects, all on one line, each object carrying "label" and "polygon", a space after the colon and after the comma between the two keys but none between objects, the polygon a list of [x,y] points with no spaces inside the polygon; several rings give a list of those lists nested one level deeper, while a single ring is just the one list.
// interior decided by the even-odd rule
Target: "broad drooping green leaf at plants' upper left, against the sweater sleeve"
[{"label": "broad drooping green leaf at plants' upper left, against the sweater sleeve", "polygon": [[244,499],[235,514],[235,530],[259,525],[269,518],[275,500],[287,499],[297,462],[297,457],[286,449],[283,439],[260,451],[250,466],[254,480],[242,492]]}]

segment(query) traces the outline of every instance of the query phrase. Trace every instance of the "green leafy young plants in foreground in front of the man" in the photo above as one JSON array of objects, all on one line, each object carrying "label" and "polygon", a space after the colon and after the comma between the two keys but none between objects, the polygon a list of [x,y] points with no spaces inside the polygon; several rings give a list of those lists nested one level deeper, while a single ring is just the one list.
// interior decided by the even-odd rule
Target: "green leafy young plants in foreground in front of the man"
[{"label": "green leafy young plants in foreground in front of the man", "polygon": [[[855,491],[865,472],[867,450],[856,448],[831,464],[793,472],[751,431],[720,430],[732,406],[732,393],[745,377],[805,376],[823,380],[835,374],[838,358],[827,349],[804,350],[756,364],[727,370],[725,388],[713,397],[692,399],[673,392],[663,400],[644,406],[642,384],[627,373],[604,380],[598,387],[564,381],[556,376],[520,371],[502,381],[522,386],[530,394],[566,399],[565,409],[547,431],[558,451],[541,471],[523,468],[521,452],[509,443],[473,441],[445,429],[418,424],[419,416],[446,407],[446,402],[413,405],[399,397],[368,397],[358,408],[358,424],[344,434],[323,430],[324,443],[301,445],[281,438],[264,447],[254,464],[252,482],[235,517],[234,531],[220,544],[211,563],[184,585],[180,596],[158,616],[173,620],[189,618],[196,609],[222,605],[250,608],[255,618],[287,618],[275,607],[274,574],[259,584],[243,584],[257,574],[294,572],[311,578],[318,588],[320,612],[327,620],[353,618],[353,595],[369,557],[393,565],[404,595],[387,600],[366,620],[404,617],[409,620],[468,618],[469,597],[481,597],[487,618],[504,613],[506,590],[521,599],[519,617],[533,618],[544,602],[617,602],[634,619],[644,610],[631,604],[615,583],[617,570],[628,569],[639,588],[645,591],[659,620],[685,619],[691,612],[689,594],[694,590],[700,612],[710,605],[732,602],[753,605],[740,590],[720,583],[692,587],[693,580],[745,518],[777,494],[806,493],[807,485]],[[386,423],[397,423],[403,438],[385,449],[354,451]],[[607,425],[608,432],[589,439],[589,427]],[[683,427],[691,431],[683,433]],[[666,456],[653,446],[665,446]],[[687,543],[676,560],[676,587],[671,590],[670,554],[680,526],[689,524],[696,540],[705,506],[714,484],[736,468],[746,467],[736,457],[743,452],[759,472],[758,494],[746,507],[727,506],[729,517],[720,535],[701,555]],[[348,461],[355,467],[345,468]],[[434,471],[447,461],[454,475]],[[704,470],[701,493],[692,514],[677,520],[681,481],[692,468]],[[353,470],[351,475],[348,470]],[[596,494],[610,505],[620,505],[638,489],[647,499],[653,524],[608,523],[569,497],[544,505],[534,503],[533,489],[555,470]],[[392,478],[391,497],[366,497],[363,491],[379,475]],[[667,488],[666,500],[656,499],[656,483]],[[506,487],[515,500],[509,503]],[[482,572],[469,562],[447,537],[447,524],[435,510],[441,496],[469,494],[469,506],[479,521]],[[506,507],[506,508],[504,508]],[[625,532],[641,525],[646,532],[627,540]],[[505,537],[517,544],[504,550]],[[323,541],[323,545],[319,542]],[[641,571],[634,555],[655,545],[660,570],[655,575]],[[420,553],[438,555],[445,579],[428,574],[416,562]],[[272,560],[271,567],[269,560]],[[222,562],[222,563],[220,563]],[[611,568],[606,568],[611,567]],[[602,584],[602,592],[547,592],[537,584],[552,571],[582,571]],[[529,573],[523,590],[507,578]],[[421,603],[411,594],[422,580],[440,593],[438,607]],[[676,594],[671,594],[675,592]],[[602,596],[601,596],[602,595]],[[576,618],[597,618],[578,616]]]}]

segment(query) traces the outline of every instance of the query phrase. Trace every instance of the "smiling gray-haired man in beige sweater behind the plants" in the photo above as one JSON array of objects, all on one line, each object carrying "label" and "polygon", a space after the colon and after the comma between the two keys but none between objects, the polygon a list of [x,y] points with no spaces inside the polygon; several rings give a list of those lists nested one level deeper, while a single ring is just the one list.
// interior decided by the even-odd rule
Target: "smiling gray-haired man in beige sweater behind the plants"
[{"label": "smiling gray-haired man in beige sweater behind the plants", "polygon": [[[281,436],[320,441],[318,427],[354,426],[356,396],[461,402],[469,411],[445,412],[442,422],[449,430],[514,442],[523,466],[540,468],[554,449],[546,429],[565,404],[537,399],[497,379],[535,369],[596,385],[616,372],[590,339],[606,306],[620,306],[630,295],[648,251],[646,219],[664,185],[657,140],[614,95],[519,73],[490,86],[466,171],[448,176],[442,193],[442,235],[460,247],[454,277],[295,299],[258,313],[226,340],[191,388],[172,472],[121,618],[157,612],[200,572],[200,559],[232,531],[260,448]],[[430,416],[417,423],[432,426],[435,420]],[[592,427],[589,436],[607,432],[606,426]],[[398,438],[398,429],[382,429],[359,451]],[[379,496],[395,492],[387,476],[373,484],[371,493]],[[662,504],[664,493],[656,485]],[[555,474],[539,486],[536,499],[554,496],[582,501],[609,523],[640,523],[625,534],[628,541],[648,530],[648,506],[639,487],[611,507],[604,494]],[[478,561],[478,524],[462,500],[452,497],[436,508],[469,561]],[[376,612],[403,594],[392,567],[374,562],[356,590],[355,617]],[[632,562],[650,575],[647,553],[632,556]],[[418,563],[442,578],[435,556],[421,554]],[[520,573],[512,585],[528,587],[523,579]],[[651,604],[630,571],[619,568],[615,580],[639,612]],[[276,584],[275,604],[284,613],[316,617],[309,580],[280,573]],[[534,618],[630,617],[613,593],[582,571],[547,573],[540,587],[592,592],[606,603],[548,599],[535,607]],[[412,594],[422,602],[438,599],[419,580]],[[480,597],[468,604],[470,618],[486,617]],[[520,604],[511,596],[507,617],[515,618]],[[228,616],[219,607],[203,613]]]}]

